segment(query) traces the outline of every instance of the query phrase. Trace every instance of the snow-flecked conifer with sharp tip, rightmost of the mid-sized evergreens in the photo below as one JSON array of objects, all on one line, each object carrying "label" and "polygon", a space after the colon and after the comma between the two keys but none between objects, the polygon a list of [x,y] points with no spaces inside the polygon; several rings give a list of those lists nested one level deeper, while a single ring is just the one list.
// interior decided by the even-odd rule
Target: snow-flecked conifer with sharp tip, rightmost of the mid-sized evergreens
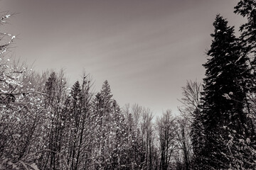
[{"label": "snow-flecked conifer with sharp tip, rightmost of the mid-sized evergreens", "polygon": [[124,169],[128,157],[124,152],[128,140],[127,124],[117,101],[112,99],[107,81],[95,96],[93,105],[95,169]]}]

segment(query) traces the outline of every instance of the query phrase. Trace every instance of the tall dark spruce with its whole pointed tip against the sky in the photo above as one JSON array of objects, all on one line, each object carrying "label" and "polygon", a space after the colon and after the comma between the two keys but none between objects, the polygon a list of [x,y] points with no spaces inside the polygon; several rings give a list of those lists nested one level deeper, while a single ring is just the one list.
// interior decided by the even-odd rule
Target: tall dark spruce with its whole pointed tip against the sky
[{"label": "tall dark spruce with its whole pointed tip against the sky", "polygon": [[227,144],[235,139],[245,139],[246,115],[243,112],[247,88],[245,79],[250,77],[247,59],[240,55],[241,46],[234,35],[234,27],[228,26],[217,15],[206,64],[203,95],[203,126],[206,133],[204,168],[225,169],[232,161],[225,157]]}]

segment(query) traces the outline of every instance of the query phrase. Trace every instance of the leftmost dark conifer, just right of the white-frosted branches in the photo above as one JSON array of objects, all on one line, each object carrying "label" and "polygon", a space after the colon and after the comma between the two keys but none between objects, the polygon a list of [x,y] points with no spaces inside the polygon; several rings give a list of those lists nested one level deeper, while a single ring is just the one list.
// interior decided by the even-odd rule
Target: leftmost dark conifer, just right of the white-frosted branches
[{"label": "leftmost dark conifer, just right of the white-frosted branches", "polygon": [[55,72],[50,74],[45,85],[45,109],[48,111],[48,149],[53,152],[46,152],[41,163],[42,167],[58,169],[62,162],[58,153],[63,147],[63,117],[67,114],[64,107],[67,101],[67,87],[63,72],[58,75]]}]

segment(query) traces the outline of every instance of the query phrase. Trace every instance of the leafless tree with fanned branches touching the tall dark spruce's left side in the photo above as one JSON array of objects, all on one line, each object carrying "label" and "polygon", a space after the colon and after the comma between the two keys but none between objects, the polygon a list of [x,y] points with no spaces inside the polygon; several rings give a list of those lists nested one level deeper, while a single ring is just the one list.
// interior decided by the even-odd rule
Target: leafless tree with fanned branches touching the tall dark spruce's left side
[{"label": "leafless tree with fanned branches touching the tall dark spruce's left side", "polygon": [[[190,164],[196,169],[196,166],[201,166],[201,155],[203,155],[205,142],[201,107],[201,97],[203,94],[202,84],[197,81],[187,81],[186,86],[183,86],[182,90],[183,97],[179,100],[182,106],[178,107],[178,109],[185,119],[183,121],[186,121],[185,127],[190,130],[190,136],[187,137],[191,139],[191,145],[193,147],[193,153],[190,153]],[[181,125],[181,127],[184,126],[183,123]]]}]

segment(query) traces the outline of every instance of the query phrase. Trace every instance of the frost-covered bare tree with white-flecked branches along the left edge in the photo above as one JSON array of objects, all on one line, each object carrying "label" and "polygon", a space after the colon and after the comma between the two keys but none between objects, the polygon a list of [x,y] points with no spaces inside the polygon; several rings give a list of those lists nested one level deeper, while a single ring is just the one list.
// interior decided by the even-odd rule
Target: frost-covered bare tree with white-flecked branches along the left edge
[{"label": "frost-covered bare tree with white-flecked branches along the left edge", "polygon": [[[13,15],[1,13],[0,26]],[[43,143],[42,96],[34,93],[37,84],[28,80],[38,79],[38,74],[9,57],[15,38],[0,33],[0,169],[36,169],[30,155]]]}]

